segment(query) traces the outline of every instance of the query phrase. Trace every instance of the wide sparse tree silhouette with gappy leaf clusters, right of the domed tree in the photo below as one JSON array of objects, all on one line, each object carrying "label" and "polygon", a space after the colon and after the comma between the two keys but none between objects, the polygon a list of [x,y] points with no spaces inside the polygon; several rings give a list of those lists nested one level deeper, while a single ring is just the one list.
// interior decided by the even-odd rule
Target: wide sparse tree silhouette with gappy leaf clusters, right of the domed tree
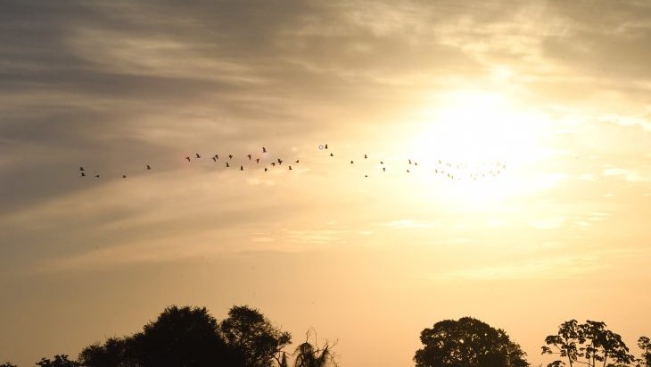
[{"label": "wide sparse tree silhouette with gappy leaf clusters, right of the domed tree", "polygon": [[[578,362],[589,367],[596,367],[597,363],[606,367],[608,363],[617,365],[634,361],[634,356],[629,354],[629,348],[622,337],[606,329],[606,323],[601,321],[586,321],[582,324],[576,320],[565,321],[556,335],[545,338],[545,343],[548,346],[542,346],[542,354],[559,354],[567,359],[570,366]],[[554,346],[556,351],[549,346]],[[548,367],[561,365],[565,365],[562,360],[548,363]]]}]

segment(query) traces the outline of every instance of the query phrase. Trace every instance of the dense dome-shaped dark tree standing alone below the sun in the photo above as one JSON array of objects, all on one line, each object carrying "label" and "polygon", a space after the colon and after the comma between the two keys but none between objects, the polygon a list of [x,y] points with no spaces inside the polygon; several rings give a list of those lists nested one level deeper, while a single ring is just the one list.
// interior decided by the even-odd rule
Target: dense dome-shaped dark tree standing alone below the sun
[{"label": "dense dome-shaped dark tree standing alone below the sun", "polygon": [[526,355],[502,329],[471,317],[445,320],[424,329],[424,348],[414,356],[416,367],[526,367]]}]

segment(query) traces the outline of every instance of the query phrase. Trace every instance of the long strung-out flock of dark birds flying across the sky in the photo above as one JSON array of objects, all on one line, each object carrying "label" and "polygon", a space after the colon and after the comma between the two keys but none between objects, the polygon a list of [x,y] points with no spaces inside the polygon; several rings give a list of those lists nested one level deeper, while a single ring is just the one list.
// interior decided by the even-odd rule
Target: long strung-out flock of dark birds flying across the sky
[{"label": "long strung-out flock of dark birds flying across the sky", "polygon": [[[326,155],[329,157],[334,158],[334,153],[328,150],[328,145],[320,145],[318,146],[319,150],[321,151],[327,151]],[[251,170],[258,168],[260,170],[263,170],[265,172],[268,172],[272,169],[284,169],[284,167],[287,167],[287,171],[293,171],[293,165],[301,163],[300,159],[292,159],[292,160],[285,160],[283,158],[270,158],[270,154],[268,154],[268,150],[266,147],[261,147],[260,153],[263,154],[263,158],[260,158],[260,156],[253,156],[253,154],[244,154],[243,155],[243,160],[245,163],[240,163],[237,159],[234,160],[235,155],[234,154],[228,154],[227,156],[220,156],[219,154],[214,154],[210,156],[210,160],[213,161],[213,163],[216,164],[221,164],[223,165],[226,169],[234,169],[238,171],[245,171],[246,170]],[[185,160],[188,163],[193,163],[196,160],[204,158],[202,154],[195,153],[194,155],[188,155],[185,156]],[[244,159],[245,158],[245,159]],[[363,154],[359,156],[360,160],[363,160],[364,162],[367,162],[369,160],[369,154]],[[348,162],[348,160],[346,160]],[[284,163],[284,166],[283,166]],[[355,159],[350,159],[349,165],[355,165],[358,164],[356,163]],[[405,165],[402,167],[400,171],[403,171],[405,173],[411,173],[412,171],[415,171],[417,167],[419,167],[418,162],[416,160],[413,160],[411,158],[407,158],[406,162],[404,163]],[[239,165],[239,168],[237,167]],[[422,166],[422,165],[421,165]],[[433,166],[432,172],[438,175],[443,176],[444,178],[447,179],[487,179],[491,177],[497,177],[499,176],[505,169],[507,168],[506,163],[502,161],[495,161],[490,164],[469,164],[469,163],[453,163],[449,161],[444,161],[441,159],[438,159]],[[149,163],[144,163],[144,171],[151,171],[152,166]],[[380,173],[385,173],[387,172],[387,164],[384,163],[383,160],[377,160],[375,163],[375,170],[380,172]],[[390,170],[391,171],[391,170]],[[87,177],[87,169],[83,166],[79,167],[79,173],[80,177],[85,178]],[[92,174],[95,179],[100,178],[100,174],[94,172]],[[364,177],[368,177],[368,173],[364,174]],[[121,175],[122,179],[127,179],[127,174],[122,174]]]}]

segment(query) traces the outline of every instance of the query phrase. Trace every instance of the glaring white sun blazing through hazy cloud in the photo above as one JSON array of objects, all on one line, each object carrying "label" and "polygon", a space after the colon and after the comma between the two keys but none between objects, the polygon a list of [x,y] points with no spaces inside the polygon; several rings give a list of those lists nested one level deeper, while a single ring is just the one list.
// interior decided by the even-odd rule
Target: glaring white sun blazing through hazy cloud
[{"label": "glaring white sun blazing through hazy cloud", "polygon": [[424,116],[415,151],[430,163],[425,177],[445,182],[445,196],[478,203],[532,188],[526,171],[543,153],[543,116],[483,91],[451,93]]}]

